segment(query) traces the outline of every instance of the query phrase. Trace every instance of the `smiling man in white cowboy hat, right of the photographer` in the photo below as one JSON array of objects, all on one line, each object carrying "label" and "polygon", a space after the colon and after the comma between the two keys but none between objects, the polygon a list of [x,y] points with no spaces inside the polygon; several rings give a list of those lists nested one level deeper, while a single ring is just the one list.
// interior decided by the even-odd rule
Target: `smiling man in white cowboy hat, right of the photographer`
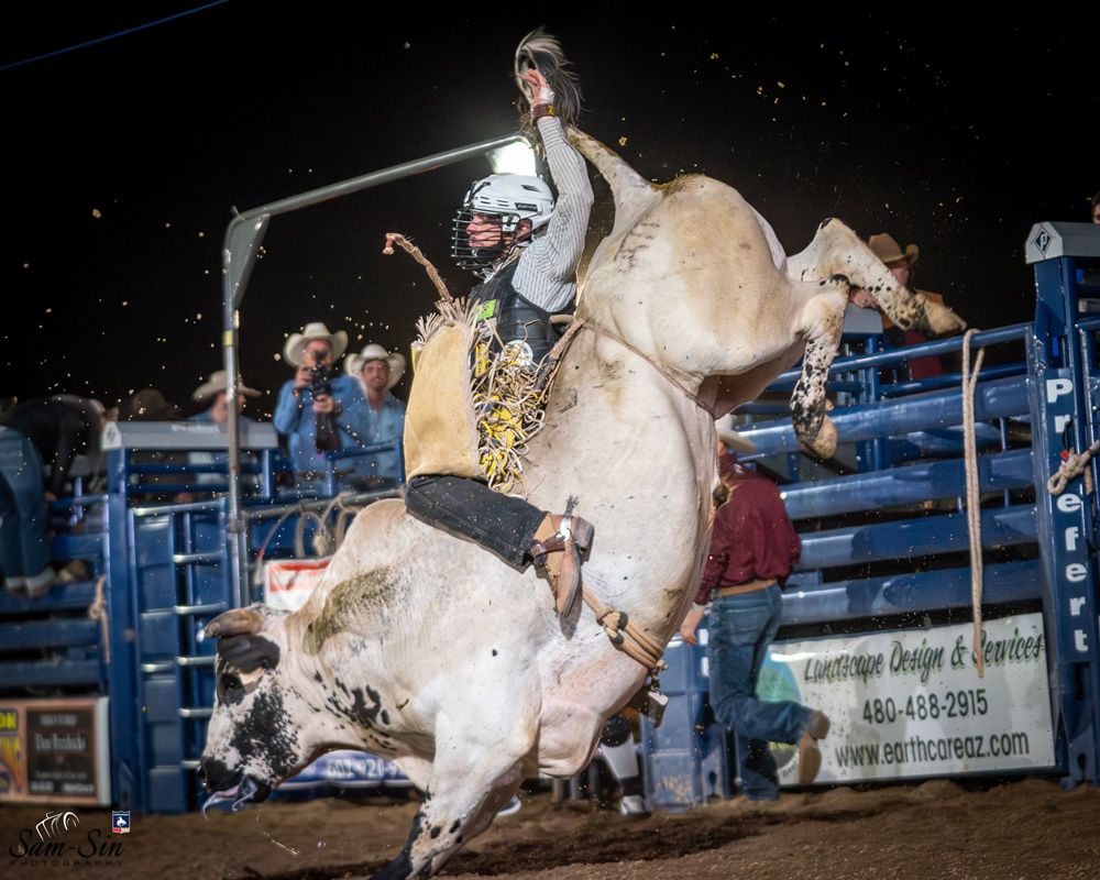
[{"label": "smiling man in white cowboy hat, right of the photographer", "polygon": [[[359,354],[344,359],[344,372],[358,378],[366,395],[366,433],[364,442],[398,442],[405,433],[405,403],[391,394],[391,389],[405,375],[405,355],[388,352],[372,342]],[[356,474],[369,487],[396,485],[400,448],[392,452],[377,452],[360,460]]]}]

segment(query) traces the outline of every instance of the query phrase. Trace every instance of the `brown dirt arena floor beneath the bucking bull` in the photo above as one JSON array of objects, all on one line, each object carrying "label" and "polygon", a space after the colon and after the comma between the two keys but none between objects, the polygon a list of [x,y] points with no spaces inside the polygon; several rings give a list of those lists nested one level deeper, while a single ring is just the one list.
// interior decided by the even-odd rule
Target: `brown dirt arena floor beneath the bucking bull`
[{"label": "brown dirt arena floor beneath the bucking bull", "polygon": [[[273,803],[239,814],[134,816],[117,858],[12,857],[20,829],[40,806],[0,807],[6,878],[111,877],[152,880],[330,880],[365,878],[393,857],[414,804],[338,800]],[[87,850],[87,829],[107,811],[77,809],[63,835]],[[272,843],[278,840],[282,846]],[[33,832],[31,839],[37,840]],[[299,850],[293,855],[283,847]],[[692,813],[625,822],[579,802],[554,807],[549,794],[524,795],[466,846],[444,876],[474,880],[1069,880],[1100,875],[1100,789],[1064,792],[1031,779],[983,791],[938,780],[871,791],[838,788],[784,794],[762,809],[741,799]]]}]

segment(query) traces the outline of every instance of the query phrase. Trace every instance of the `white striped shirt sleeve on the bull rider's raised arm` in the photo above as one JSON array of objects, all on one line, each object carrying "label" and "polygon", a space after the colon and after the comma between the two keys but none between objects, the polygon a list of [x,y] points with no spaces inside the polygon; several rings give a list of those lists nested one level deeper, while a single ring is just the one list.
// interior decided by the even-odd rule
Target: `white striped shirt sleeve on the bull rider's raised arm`
[{"label": "white striped shirt sleeve on the bull rider's raised arm", "polygon": [[542,117],[536,124],[558,186],[558,201],[546,232],[524,249],[512,283],[536,306],[560,311],[576,294],[576,264],[588,228],[592,185],[584,158],[570,146],[561,122]]}]

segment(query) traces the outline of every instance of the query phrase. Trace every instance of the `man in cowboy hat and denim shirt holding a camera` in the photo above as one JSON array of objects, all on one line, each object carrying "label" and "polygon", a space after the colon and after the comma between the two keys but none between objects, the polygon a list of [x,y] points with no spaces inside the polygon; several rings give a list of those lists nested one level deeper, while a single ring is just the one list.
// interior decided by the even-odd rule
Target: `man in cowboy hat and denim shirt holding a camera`
[{"label": "man in cowboy hat and denim shirt holding a camera", "polygon": [[362,386],[336,375],[332,362],[348,348],[348,334],[320,322],[292,333],[283,356],[296,367],[295,377],[279,389],[275,430],[287,438],[299,490],[320,490],[324,453],[355,449],[366,437],[366,399]]}]

